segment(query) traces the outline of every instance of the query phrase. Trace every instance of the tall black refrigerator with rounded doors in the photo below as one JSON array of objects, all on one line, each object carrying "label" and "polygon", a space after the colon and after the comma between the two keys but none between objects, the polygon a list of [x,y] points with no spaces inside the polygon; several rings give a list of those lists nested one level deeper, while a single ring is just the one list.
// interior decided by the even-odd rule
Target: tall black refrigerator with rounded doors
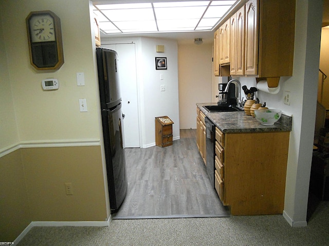
[{"label": "tall black refrigerator with rounded doors", "polygon": [[96,48],[96,56],[109,203],[113,214],[127,192],[118,54],[114,50]]}]

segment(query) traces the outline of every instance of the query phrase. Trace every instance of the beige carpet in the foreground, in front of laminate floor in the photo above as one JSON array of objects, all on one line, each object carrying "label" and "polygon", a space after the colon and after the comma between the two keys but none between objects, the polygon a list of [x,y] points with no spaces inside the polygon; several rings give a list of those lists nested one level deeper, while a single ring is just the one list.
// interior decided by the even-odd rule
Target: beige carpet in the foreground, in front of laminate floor
[{"label": "beige carpet in the foreground, in front of laminate floor", "polygon": [[17,245],[329,245],[329,202],[304,228],[291,228],[282,215],[122,219],[102,228],[34,227]]}]

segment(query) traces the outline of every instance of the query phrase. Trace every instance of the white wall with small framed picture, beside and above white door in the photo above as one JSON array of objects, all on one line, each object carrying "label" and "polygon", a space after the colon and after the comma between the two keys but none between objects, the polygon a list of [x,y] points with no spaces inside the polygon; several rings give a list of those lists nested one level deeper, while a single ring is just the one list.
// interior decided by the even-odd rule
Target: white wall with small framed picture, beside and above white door
[{"label": "white wall with small framed picture, beside and above white door", "polygon": [[[136,43],[140,133],[143,148],[155,145],[155,117],[167,115],[174,121],[173,138],[179,139],[178,48],[176,40],[163,38],[102,38],[102,44]],[[157,53],[156,45],[165,52]],[[167,70],[155,69],[155,57],[167,57]],[[160,80],[160,74],[163,80]],[[160,91],[160,85],[166,91]]]}]

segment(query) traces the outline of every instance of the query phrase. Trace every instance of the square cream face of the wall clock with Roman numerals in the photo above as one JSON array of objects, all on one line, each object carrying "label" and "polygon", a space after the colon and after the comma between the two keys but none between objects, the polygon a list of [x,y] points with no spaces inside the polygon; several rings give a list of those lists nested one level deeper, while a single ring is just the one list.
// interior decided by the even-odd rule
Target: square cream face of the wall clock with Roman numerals
[{"label": "square cream face of the wall clock with Roman numerals", "polygon": [[35,15],[30,19],[32,43],[55,41],[54,21],[50,15]]}]

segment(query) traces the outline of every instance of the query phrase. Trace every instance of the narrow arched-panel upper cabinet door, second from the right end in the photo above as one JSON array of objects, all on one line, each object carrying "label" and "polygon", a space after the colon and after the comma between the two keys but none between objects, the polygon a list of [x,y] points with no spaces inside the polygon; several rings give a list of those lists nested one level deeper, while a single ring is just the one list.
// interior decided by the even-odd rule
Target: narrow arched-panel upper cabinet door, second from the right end
[{"label": "narrow arched-panel upper cabinet door, second from the right end", "polygon": [[[235,34],[235,71],[236,75],[245,74],[245,6],[236,12]],[[232,60],[232,57],[231,57]]]}]

